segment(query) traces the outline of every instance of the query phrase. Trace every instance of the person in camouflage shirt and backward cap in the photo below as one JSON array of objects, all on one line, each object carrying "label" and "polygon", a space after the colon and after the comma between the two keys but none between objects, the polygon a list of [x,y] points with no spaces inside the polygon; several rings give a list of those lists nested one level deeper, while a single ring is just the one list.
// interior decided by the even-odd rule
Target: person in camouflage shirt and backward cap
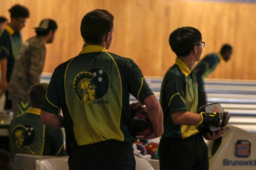
[{"label": "person in camouflage shirt and backward cap", "polygon": [[45,44],[53,42],[56,29],[54,20],[43,19],[36,28],[36,36],[20,47],[9,82],[8,98],[12,100],[14,116],[30,108],[29,89],[40,82],[46,56]]}]

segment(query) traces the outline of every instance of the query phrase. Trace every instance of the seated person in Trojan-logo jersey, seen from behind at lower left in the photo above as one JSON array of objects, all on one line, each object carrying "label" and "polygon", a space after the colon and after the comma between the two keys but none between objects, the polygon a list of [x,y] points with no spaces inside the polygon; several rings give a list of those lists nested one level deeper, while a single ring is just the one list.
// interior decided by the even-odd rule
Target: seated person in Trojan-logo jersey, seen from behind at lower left
[{"label": "seated person in Trojan-logo jersey, seen from behind at lower left", "polygon": [[40,122],[40,108],[47,88],[46,83],[32,86],[29,93],[32,107],[27,113],[16,116],[10,124],[9,143],[12,161],[17,153],[67,156],[61,128],[53,128]]}]

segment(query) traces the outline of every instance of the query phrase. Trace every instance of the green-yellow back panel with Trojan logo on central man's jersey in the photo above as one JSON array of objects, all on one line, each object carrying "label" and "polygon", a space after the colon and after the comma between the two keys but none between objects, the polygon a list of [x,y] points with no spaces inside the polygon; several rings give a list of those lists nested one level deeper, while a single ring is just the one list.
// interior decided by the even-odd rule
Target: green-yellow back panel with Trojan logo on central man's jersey
[{"label": "green-yellow back panel with Trojan logo on central man's jersey", "polygon": [[[123,141],[119,128],[122,109],[119,69],[110,54],[101,53],[98,56],[80,54],[66,69],[67,106],[78,145],[108,139]],[[69,90],[72,88],[73,91]]]}]

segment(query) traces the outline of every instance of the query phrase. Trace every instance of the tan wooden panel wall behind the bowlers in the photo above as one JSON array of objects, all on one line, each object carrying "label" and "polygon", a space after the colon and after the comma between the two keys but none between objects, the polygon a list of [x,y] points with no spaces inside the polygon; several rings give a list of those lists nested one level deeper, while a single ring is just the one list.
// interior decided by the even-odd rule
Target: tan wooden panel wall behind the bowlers
[{"label": "tan wooden panel wall behind the bowlers", "polygon": [[9,17],[16,4],[29,8],[31,16],[22,30],[23,39],[33,36],[33,27],[43,18],[57,21],[53,44],[47,45],[44,72],[82,49],[80,21],[96,8],[115,17],[114,37],[109,51],[132,58],[145,76],[163,76],[174,63],[168,44],[170,33],[182,26],[199,29],[206,42],[202,57],[218,52],[223,43],[234,47],[228,63],[221,63],[209,78],[256,79],[256,4],[172,0],[0,0],[0,15]]}]

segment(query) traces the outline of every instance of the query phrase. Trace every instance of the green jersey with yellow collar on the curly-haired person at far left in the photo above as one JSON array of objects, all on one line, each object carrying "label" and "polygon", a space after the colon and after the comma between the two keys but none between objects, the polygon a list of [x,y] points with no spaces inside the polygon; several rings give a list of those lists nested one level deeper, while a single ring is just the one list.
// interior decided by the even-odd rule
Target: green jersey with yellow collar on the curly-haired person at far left
[{"label": "green jersey with yellow collar on the curly-haired person at far left", "polygon": [[7,58],[6,79],[9,82],[13,71],[14,63],[20,46],[22,37],[20,32],[14,31],[8,24],[0,36],[0,59]]}]

